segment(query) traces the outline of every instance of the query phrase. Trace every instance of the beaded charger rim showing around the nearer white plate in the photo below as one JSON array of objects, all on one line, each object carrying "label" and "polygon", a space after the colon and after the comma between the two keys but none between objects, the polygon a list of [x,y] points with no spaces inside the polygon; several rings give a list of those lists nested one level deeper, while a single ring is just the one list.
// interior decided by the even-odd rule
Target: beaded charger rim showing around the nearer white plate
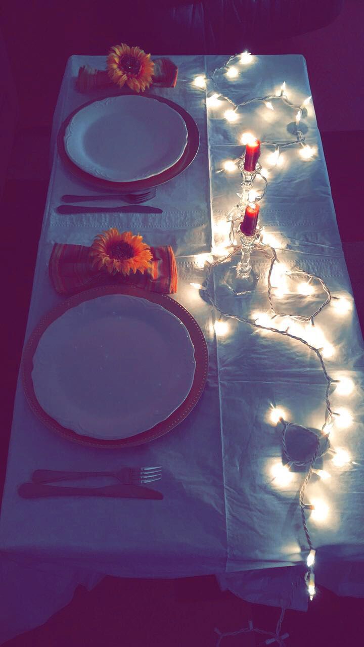
[{"label": "beaded charger rim showing around the nearer white plate", "polygon": [[[152,428],[140,432],[137,435],[122,438],[122,439],[111,439],[111,440],[102,440],[95,437],[79,435],[71,429],[63,427],[60,423],[52,419],[52,417],[46,413],[41,407],[36,394],[34,392],[34,386],[32,383],[32,367],[33,367],[33,356],[38,346],[38,341],[41,338],[41,335],[47,329],[47,327],[54,322],[58,317],[65,313],[65,311],[71,309],[75,305],[79,305],[84,301],[92,300],[97,296],[105,296],[106,294],[128,294],[130,296],[137,296],[144,298],[148,301],[159,303],[165,307],[170,313],[175,314],[179,320],[185,325],[190,338],[192,340],[192,345],[194,346],[194,358],[196,362],[196,369],[194,373],[194,379],[192,381],[192,386],[188,392],[187,397],[175,411],[173,411],[164,421],[158,422]],[[172,299],[167,294],[161,294],[159,292],[148,292],[142,290],[141,288],[131,287],[131,286],[102,286],[91,288],[84,292],[79,292],[73,296],[67,298],[62,303],[58,303],[56,307],[48,311],[30,333],[28,340],[25,344],[23,355],[21,358],[21,380],[23,383],[23,389],[25,397],[30,406],[30,409],[33,413],[40,419],[47,428],[51,429],[54,432],[59,433],[66,439],[74,441],[78,444],[83,444],[85,446],[97,447],[102,449],[120,449],[124,447],[133,447],[140,444],[149,443],[150,441],[159,438],[166,433],[174,429],[180,422],[182,422],[189,413],[196,406],[199,398],[202,395],[203,389],[205,388],[207,380],[207,371],[209,368],[209,352],[207,349],[207,343],[205,336],[201,331],[198,323],[181,303]]]}]

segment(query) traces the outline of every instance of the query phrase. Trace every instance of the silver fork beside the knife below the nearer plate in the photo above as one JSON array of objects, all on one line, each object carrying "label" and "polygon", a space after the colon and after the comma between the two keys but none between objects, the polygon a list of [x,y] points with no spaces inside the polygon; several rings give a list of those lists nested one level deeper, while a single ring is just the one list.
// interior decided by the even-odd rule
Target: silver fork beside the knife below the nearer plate
[{"label": "silver fork beside the knife below the nearer plate", "polygon": [[35,470],[32,474],[33,483],[52,483],[52,481],[67,481],[71,479],[84,479],[89,476],[115,477],[121,483],[129,485],[143,485],[159,481],[162,477],[162,468],[157,467],[123,467],[116,472],[62,472],[59,470]]}]

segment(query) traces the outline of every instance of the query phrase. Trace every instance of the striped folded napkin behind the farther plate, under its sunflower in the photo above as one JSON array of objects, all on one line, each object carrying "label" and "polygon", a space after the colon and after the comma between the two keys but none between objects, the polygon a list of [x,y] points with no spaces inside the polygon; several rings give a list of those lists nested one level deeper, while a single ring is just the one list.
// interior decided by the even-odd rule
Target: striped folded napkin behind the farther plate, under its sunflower
[{"label": "striped folded napkin behind the farther plate, under its sunflower", "polygon": [[[157,87],[175,87],[177,83],[178,68],[177,65],[172,63],[169,58],[154,58],[154,73],[152,77],[153,85]],[[78,92],[91,92],[102,87],[117,87],[115,83],[110,80],[106,70],[98,70],[90,65],[82,65],[78,70],[78,77],[76,80],[76,88]],[[123,89],[119,88],[120,93]],[[125,90],[130,92],[130,89],[125,86]]]}]

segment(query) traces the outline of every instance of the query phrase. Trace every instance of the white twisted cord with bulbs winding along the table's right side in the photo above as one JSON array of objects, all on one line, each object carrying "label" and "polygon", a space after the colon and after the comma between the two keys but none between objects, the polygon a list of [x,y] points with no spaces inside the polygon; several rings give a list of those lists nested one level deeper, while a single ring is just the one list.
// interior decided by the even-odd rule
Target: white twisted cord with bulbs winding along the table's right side
[{"label": "white twisted cord with bulbs winding along the table's right side", "polygon": [[[218,87],[218,82],[216,80],[216,76],[218,72],[222,72],[223,70],[225,70],[225,74],[228,78],[230,78],[231,80],[236,78],[239,75],[239,71],[238,69],[231,67],[230,64],[234,59],[237,59],[237,58],[238,57],[236,55],[231,56],[229,60],[227,60],[227,62],[222,67],[215,69],[214,72],[212,72],[212,74],[208,76],[210,83],[212,83],[214,87],[215,93],[207,97],[207,105],[212,109],[214,107],[219,107],[219,106],[221,107],[223,105],[221,100],[231,104],[233,106],[233,109],[227,110],[224,113],[224,116],[227,122],[236,122],[236,120],[238,120],[238,111],[248,104],[262,102],[266,105],[267,109],[270,109],[270,110],[274,110],[273,102],[281,102],[281,103],[284,103],[285,105],[288,105],[288,107],[295,109],[295,111],[297,111],[295,115],[295,122],[292,122],[292,124],[289,124],[289,126],[291,126],[291,132],[292,132],[292,135],[294,136],[294,139],[284,140],[280,142],[275,140],[266,140],[266,141],[261,141],[260,144],[274,147],[274,151],[271,154],[271,159],[273,160],[272,162],[273,166],[280,165],[279,164],[280,151],[282,149],[286,149],[291,146],[297,146],[297,145],[300,146],[302,159],[306,159],[306,160],[311,159],[313,157],[313,154],[315,153],[315,148],[313,148],[312,146],[306,146],[304,144],[305,135],[302,132],[302,129],[300,127],[302,116],[307,114],[306,106],[310,103],[311,96],[308,96],[301,104],[294,104],[293,102],[288,100],[288,97],[286,94],[286,83],[284,82],[282,83],[282,86],[280,87],[280,91],[277,94],[267,94],[266,96],[258,96],[235,104],[233,100],[231,100],[231,98],[229,98],[228,96],[220,92],[220,89]],[[249,63],[251,61],[251,58],[253,57],[251,57],[249,52],[244,52],[243,54],[240,55],[240,63],[242,64]],[[205,87],[205,81],[203,80],[203,78],[199,77],[199,79],[201,80],[199,82],[200,85],[198,85],[198,83],[196,83],[196,85],[198,85],[198,87]],[[254,136],[251,135],[251,133],[244,133],[240,138],[240,142],[242,144],[247,144],[249,138],[254,138]],[[330,434],[330,429],[334,424],[334,418],[336,416],[341,415],[339,413],[332,411],[332,407],[330,404],[331,386],[334,382],[339,382],[340,380],[335,380],[332,377],[330,377],[330,375],[328,374],[328,371],[324,363],[324,355],[326,353],[326,356],[330,356],[331,351],[330,351],[330,347],[326,347],[325,349],[323,344],[321,344],[321,340],[317,340],[317,335],[315,336],[314,334],[315,318],[330,304],[332,299],[337,299],[337,297],[333,296],[330,293],[328,286],[326,285],[326,283],[324,283],[321,277],[316,276],[315,274],[310,274],[309,272],[304,272],[304,270],[299,270],[299,269],[285,271],[284,274],[286,276],[298,276],[298,277],[302,276],[306,278],[306,280],[308,281],[308,283],[306,283],[306,289],[308,290],[306,292],[307,295],[310,294],[310,289],[312,288],[310,284],[312,283],[312,281],[317,281],[322,291],[324,292],[325,298],[321,303],[321,305],[319,305],[319,307],[317,307],[315,312],[313,314],[310,314],[310,316],[302,316],[301,314],[295,314],[295,313],[278,312],[273,305],[273,298],[272,298],[271,291],[272,291],[272,287],[275,287],[275,286],[272,286],[271,278],[272,278],[273,269],[275,267],[275,263],[280,263],[280,261],[277,258],[277,252],[275,250],[275,247],[273,247],[273,245],[268,245],[267,243],[264,243],[262,234],[260,234],[260,237],[255,241],[253,250],[262,252],[264,256],[266,256],[266,258],[269,258],[271,261],[269,272],[267,274],[267,298],[269,301],[269,308],[271,311],[269,322],[266,322],[266,321],[262,322],[259,320],[259,318],[245,318],[243,316],[238,316],[233,313],[228,313],[218,306],[218,303],[216,303],[216,300],[214,298],[214,291],[212,292],[210,287],[210,281],[213,276],[214,269],[222,263],[227,263],[228,261],[231,261],[233,256],[235,254],[238,254],[240,250],[242,250],[242,247],[240,245],[236,245],[235,234],[236,234],[236,223],[242,220],[242,206],[244,205],[244,200],[246,198],[247,176],[244,176],[244,173],[245,173],[244,155],[234,160],[227,160],[225,162],[224,168],[221,168],[220,170],[216,171],[216,173],[222,173],[224,170],[234,171],[237,169],[240,170],[243,182],[242,182],[242,193],[237,193],[238,197],[240,198],[240,203],[236,205],[236,207],[234,207],[233,210],[231,210],[231,212],[227,216],[227,221],[230,223],[229,243],[230,243],[231,251],[228,252],[227,249],[225,248],[225,252],[223,252],[223,258],[219,258],[218,260],[215,260],[208,264],[207,276],[205,278],[205,283],[203,286],[199,284],[193,284],[193,283],[192,285],[194,285],[194,287],[196,288],[202,289],[204,291],[205,296],[207,297],[207,300],[216,309],[218,313],[218,320],[216,320],[216,323],[215,323],[216,331],[217,331],[217,328],[216,328],[217,323],[222,323],[224,319],[231,318],[241,323],[247,323],[248,325],[256,329],[270,331],[271,333],[280,334],[284,337],[288,337],[291,340],[294,340],[295,342],[301,343],[302,345],[310,349],[310,351],[313,351],[313,353],[315,353],[315,355],[317,356],[317,359],[319,360],[321,370],[323,371],[324,378],[326,380],[326,389],[324,391],[325,414],[324,414],[324,422],[321,428],[321,432],[315,433],[313,432],[313,430],[310,430],[301,425],[287,422],[286,420],[284,420],[284,416],[281,413],[277,415],[277,419],[275,421],[276,423],[280,422],[280,424],[282,424],[282,433],[281,433],[280,441],[282,446],[282,454],[286,459],[286,466],[285,466],[286,469],[291,470],[291,468],[301,468],[302,470],[303,468],[306,472],[306,476],[304,477],[304,480],[302,482],[302,485],[299,491],[299,507],[301,510],[302,527],[304,530],[304,534],[306,536],[306,542],[307,542],[308,551],[309,551],[308,557],[307,557],[308,570],[306,570],[306,573],[303,576],[300,576],[297,580],[295,580],[295,582],[293,582],[290,600],[288,601],[286,606],[282,608],[279,620],[277,622],[277,627],[274,633],[255,629],[253,628],[252,622],[249,622],[249,626],[247,628],[234,631],[231,633],[222,633],[220,630],[216,629],[216,633],[218,633],[219,635],[218,643],[217,643],[218,646],[220,645],[224,637],[236,636],[236,635],[239,635],[240,633],[249,633],[250,631],[255,631],[256,633],[260,633],[268,637],[265,641],[265,644],[277,642],[280,646],[284,647],[283,641],[284,639],[286,639],[286,637],[288,637],[288,634],[284,634],[284,635],[280,634],[282,620],[284,618],[284,613],[286,609],[289,608],[291,605],[295,587],[297,587],[298,584],[302,584],[302,579],[304,579],[304,582],[306,582],[306,587],[308,589],[308,595],[310,599],[312,600],[313,595],[315,595],[315,575],[313,571],[313,563],[315,562],[315,548],[313,547],[312,538],[310,536],[310,530],[308,528],[306,512],[307,510],[314,510],[318,514],[318,510],[316,506],[310,503],[306,503],[304,501],[304,496],[306,493],[306,487],[310,481],[310,478],[312,477],[313,472],[316,472],[316,473],[323,472],[323,470],[315,470],[315,461],[317,460],[317,457],[319,457],[319,455],[320,456],[323,455],[326,451],[330,451],[332,454],[336,454],[334,450],[328,449],[328,446],[329,446],[328,437]],[[249,182],[248,184],[249,184],[249,188],[251,188],[252,190],[256,177],[259,177],[261,180],[264,181],[264,188],[259,192],[253,191],[254,193],[253,200],[249,198],[249,202],[260,201],[262,197],[264,197],[264,195],[266,194],[267,187],[268,187],[267,175],[268,175],[267,171],[265,171],[258,162],[256,164],[253,175],[249,176],[248,180],[250,184]],[[310,289],[308,289],[307,286]],[[290,320],[293,320],[295,322],[308,324],[308,327],[313,332],[313,339],[312,339],[312,336],[311,337],[309,336],[308,339],[307,338],[305,339],[302,333],[299,334],[300,330],[298,331],[298,333],[297,333],[297,330],[296,331],[290,330],[290,325],[287,325],[287,326],[284,325],[283,327],[282,326],[274,327],[274,325],[272,325],[272,322],[274,322],[274,320],[278,320],[280,322],[284,320],[284,318],[289,318]],[[310,452],[310,455],[304,460],[297,459],[297,457],[295,457],[294,455],[291,455],[290,450],[288,449],[288,443],[287,443],[288,434],[290,432],[293,432],[293,434],[295,432],[297,433],[297,430],[300,430],[301,433],[304,433],[304,434],[307,433],[308,435],[311,436],[311,439],[314,440],[313,448]],[[326,441],[326,447],[324,447],[323,450],[321,448],[321,440]],[[324,513],[324,509],[321,509],[321,512]]]}]

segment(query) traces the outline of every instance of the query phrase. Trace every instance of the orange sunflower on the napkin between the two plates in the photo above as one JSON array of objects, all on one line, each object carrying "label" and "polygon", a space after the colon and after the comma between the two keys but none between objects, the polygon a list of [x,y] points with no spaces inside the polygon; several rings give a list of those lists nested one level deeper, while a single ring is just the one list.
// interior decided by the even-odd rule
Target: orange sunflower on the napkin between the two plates
[{"label": "orange sunflower on the napkin between the two plates", "polygon": [[150,247],[142,242],[141,236],[131,232],[120,232],[116,228],[98,234],[91,245],[91,263],[98,270],[106,269],[109,274],[128,276],[139,270],[142,274],[150,267],[153,258]]}]

